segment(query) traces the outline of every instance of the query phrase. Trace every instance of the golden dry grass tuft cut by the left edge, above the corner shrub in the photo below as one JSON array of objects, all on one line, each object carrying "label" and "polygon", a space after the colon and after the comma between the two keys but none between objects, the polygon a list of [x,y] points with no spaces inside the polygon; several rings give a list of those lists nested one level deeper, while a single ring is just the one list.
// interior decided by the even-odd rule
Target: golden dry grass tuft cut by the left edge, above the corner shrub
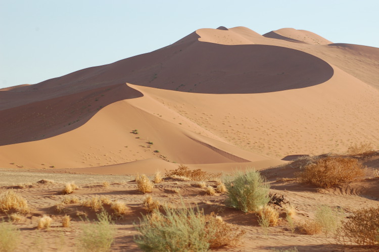
[{"label": "golden dry grass tuft cut by the left edge, above the corner shrub", "polygon": [[16,211],[20,213],[29,212],[28,203],[21,194],[7,190],[0,194],[0,212]]}]

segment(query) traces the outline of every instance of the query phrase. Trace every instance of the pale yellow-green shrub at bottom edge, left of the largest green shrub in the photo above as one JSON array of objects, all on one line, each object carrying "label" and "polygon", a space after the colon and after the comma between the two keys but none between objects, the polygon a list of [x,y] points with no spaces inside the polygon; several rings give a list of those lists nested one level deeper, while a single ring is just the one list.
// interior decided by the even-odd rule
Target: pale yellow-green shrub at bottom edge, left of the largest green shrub
[{"label": "pale yellow-green shrub at bottom edge, left of the largest green shrub", "polygon": [[82,235],[78,238],[78,246],[82,251],[110,251],[116,230],[111,217],[106,212],[97,215],[97,222],[86,223],[81,226]]}]

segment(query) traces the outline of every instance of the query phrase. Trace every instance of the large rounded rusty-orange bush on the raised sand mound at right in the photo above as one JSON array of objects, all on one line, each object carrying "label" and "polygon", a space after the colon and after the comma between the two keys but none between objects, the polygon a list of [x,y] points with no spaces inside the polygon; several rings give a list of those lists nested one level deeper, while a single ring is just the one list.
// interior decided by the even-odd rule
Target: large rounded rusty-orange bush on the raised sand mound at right
[{"label": "large rounded rusty-orange bush on the raised sand mound at right", "polygon": [[310,164],[296,174],[300,182],[330,188],[364,175],[363,166],[353,158],[327,157]]}]

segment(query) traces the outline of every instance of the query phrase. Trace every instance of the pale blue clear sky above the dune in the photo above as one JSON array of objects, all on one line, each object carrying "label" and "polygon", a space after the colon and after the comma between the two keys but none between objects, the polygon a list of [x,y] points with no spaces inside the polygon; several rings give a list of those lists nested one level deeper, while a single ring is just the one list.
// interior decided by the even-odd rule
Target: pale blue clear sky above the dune
[{"label": "pale blue clear sky above the dune", "polygon": [[149,53],[201,28],[280,28],[379,47],[377,0],[0,0],[0,88]]}]

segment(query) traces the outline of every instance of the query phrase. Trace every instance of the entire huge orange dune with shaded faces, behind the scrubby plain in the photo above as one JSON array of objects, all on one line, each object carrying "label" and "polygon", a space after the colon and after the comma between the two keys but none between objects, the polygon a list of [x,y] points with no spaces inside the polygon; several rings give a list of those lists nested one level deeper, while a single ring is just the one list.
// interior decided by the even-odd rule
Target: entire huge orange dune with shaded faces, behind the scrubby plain
[{"label": "entire huge orange dune with shaded faces, behind the scrubby plain", "polygon": [[148,54],[0,89],[0,167],[123,174],[148,160],[230,171],[379,146],[378,80],[379,48],[293,28],[200,29]]}]

